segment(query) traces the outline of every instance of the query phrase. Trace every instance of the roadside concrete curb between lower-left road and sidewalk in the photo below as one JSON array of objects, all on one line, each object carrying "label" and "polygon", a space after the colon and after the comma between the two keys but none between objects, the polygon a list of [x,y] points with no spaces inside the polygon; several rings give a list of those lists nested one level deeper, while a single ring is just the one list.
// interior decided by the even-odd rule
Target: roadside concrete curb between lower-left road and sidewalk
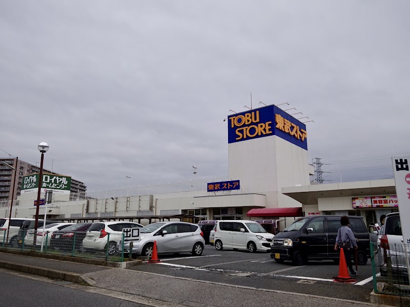
[{"label": "roadside concrete curb between lower-left road and sidewalk", "polygon": [[[81,277],[79,274],[76,274],[76,273],[59,271],[59,270],[51,270],[51,269],[45,269],[45,268],[22,265],[22,264],[15,264],[13,262],[8,262],[8,261],[0,261],[0,268],[28,273],[32,275],[44,276],[44,277],[53,278],[53,279],[61,279],[61,280],[75,282],[75,283],[86,284],[87,286],[94,286],[95,284],[95,282],[91,280],[90,278]],[[89,280],[92,282],[89,282]]]}]

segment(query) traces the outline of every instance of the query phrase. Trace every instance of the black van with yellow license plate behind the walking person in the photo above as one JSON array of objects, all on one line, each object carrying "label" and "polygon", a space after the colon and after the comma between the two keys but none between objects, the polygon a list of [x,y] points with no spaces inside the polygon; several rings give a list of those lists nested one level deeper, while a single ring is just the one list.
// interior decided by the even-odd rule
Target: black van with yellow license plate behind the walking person
[{"label": "black van with yellow license plate behind the walking person", "polygon": [[[339,251],[335,251],[336,236],[341,215],[316,215],[300,217],[278,233],[271,244],[271,258],[282,263],[291,260],[296,266],[308,260],[333,259],[339,261]],[[370,235],[363,217],[348,216],[350,227],[358,246],[357,262],[364,266],[370,258]]]}]

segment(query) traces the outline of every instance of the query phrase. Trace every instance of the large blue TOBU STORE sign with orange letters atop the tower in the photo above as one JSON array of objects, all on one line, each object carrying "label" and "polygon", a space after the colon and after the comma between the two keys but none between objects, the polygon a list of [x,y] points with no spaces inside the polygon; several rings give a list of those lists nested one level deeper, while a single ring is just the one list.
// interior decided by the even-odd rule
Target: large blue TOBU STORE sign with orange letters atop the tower
[{"label": "large blue TOBU STORE sign with orange letters atop the tower", "polygon": [[228,116],[228,143],[278,136],[308,150],[306,125],[276,105]]}]

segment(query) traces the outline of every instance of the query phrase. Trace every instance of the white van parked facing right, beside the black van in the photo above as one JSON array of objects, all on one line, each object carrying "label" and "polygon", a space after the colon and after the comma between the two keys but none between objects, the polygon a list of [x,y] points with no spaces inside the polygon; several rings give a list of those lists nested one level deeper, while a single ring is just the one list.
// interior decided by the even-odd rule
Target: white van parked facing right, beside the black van
[{"label": "white van parked facing right, beside the black van", "polygon": [[248,249],[250,252],[271,250],[273,234],[267,232],[259,223],[252,221],[218,221],[214,245],[217,250],[224,247]]}]

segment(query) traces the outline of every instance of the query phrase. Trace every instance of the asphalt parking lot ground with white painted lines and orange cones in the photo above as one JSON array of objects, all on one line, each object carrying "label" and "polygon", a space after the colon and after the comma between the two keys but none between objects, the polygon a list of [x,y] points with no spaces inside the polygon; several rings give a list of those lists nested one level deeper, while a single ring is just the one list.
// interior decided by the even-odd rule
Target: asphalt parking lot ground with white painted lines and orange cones
[{"label": "asphalt parking lot ground with white painted lines and orange cones", "polygon": [[373,289],[370,259],[367,265],[358,267],[356,283],[334,282],[333,276],[339,271],[339,265],[334,261],[309,261],[307,265],[296,267],[288,261],[277,263],[267,252],[217,251],[210,245],[199,257],[179,254],[160,255],[159,259],[161,262],[157,264],[144,262],[133,270],[365,302],[370,301],[369,294]]}]

